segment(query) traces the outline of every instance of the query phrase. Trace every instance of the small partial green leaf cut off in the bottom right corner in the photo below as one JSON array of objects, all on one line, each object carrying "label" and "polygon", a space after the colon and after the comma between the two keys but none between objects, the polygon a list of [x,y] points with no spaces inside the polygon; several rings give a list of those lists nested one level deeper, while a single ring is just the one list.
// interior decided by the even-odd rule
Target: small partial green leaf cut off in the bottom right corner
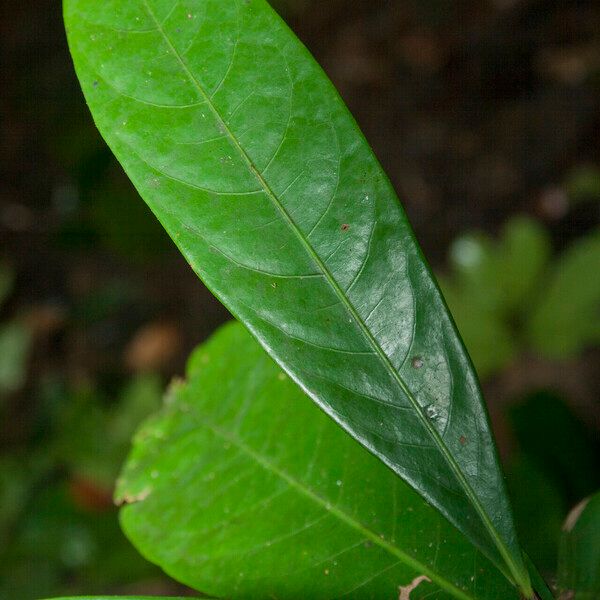
[{"label": "small partial green leaf cut off in the bottom right corner", "polygon": [[600,493],[580,502],[563,526],[558,586],[569,600],[600,597]]}]

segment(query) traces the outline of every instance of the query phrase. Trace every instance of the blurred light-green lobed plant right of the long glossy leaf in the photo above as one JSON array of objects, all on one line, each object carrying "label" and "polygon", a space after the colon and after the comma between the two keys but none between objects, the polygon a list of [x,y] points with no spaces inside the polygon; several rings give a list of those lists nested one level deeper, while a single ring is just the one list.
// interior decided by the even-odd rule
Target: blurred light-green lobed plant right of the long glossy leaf
[{"label": "blurred light-green lobed plant right of the long glossy leaf", "polygon": [[524,352],[566,359],[600,340],[600,231],[550,260],[551,242],[535,221],[508,222],[499,241],[482,233],[452,245],[452,271],[441,279],[480,377]]}]

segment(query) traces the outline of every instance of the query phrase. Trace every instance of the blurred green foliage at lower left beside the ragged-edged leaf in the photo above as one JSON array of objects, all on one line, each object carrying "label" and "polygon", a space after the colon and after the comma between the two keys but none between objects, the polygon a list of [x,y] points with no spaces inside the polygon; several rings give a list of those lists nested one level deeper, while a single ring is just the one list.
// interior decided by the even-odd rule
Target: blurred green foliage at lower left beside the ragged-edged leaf
[{"label": "blurred green foliage at lower left beside the ragged-edged leaf", "polygon": [[156,376],[139,375],[108,405],[91,384],[40,386],[32,442],[0,460],[0,598],[156,576],[119,531],[111,489],[161,387]]}]

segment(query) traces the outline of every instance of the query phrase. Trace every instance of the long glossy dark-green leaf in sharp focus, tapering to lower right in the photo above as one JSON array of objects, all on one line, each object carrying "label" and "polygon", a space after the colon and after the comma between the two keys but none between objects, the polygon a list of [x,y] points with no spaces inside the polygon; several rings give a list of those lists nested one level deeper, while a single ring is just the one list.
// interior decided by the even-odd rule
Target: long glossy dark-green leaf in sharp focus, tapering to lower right
[{"label": "long glossy dark-green leaf in sharp focus, tapering to lower right", "polygon": [[307,50],[263,0],[64,7],[94,119],[195,271],[529,595],[470,361],[389,180]]}]

